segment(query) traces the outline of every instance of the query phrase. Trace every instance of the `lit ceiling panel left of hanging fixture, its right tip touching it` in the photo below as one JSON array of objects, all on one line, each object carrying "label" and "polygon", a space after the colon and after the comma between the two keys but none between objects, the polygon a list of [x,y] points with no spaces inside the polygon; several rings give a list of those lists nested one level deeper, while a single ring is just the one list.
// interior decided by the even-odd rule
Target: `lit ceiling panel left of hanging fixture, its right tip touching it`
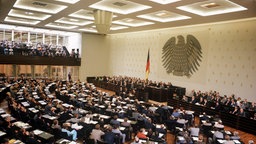
[{"label": "lit ceiling panel left of hanging fixture, its right tip touching it", "polygon": [[67,18],[67,17],[63,17],[61,19],[58,19],[55,22],[77,25],[77,26],[85,26],[85,25],[93,23],[92,21],[80,20],[80,19],[74,19],[74,18]]}]

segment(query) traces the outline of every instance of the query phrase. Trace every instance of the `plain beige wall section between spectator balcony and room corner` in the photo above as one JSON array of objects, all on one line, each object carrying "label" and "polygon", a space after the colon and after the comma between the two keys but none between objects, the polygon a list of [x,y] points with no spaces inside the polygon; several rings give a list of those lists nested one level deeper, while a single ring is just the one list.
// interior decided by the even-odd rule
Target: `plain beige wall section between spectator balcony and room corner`
[{"label": "plain beige wall section between spectator balcony and room corner", "polygon": [[109,45],[107,36],[82,34],[82,61],[80,80],[89,76],[103,76],[109,73]]}]

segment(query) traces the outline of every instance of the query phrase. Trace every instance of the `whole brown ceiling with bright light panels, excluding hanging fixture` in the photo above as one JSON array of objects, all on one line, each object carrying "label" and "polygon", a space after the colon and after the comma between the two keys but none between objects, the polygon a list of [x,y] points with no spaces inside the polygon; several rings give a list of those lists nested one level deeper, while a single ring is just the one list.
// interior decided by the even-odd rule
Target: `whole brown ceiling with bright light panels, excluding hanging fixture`
[{"label": "whole brown ceiling with bright light panels, excluding hanging fixture", "polygon": [[0,23],[97,33],[98,9],[115,34],[255,18],[256,0],[0,0]]}]

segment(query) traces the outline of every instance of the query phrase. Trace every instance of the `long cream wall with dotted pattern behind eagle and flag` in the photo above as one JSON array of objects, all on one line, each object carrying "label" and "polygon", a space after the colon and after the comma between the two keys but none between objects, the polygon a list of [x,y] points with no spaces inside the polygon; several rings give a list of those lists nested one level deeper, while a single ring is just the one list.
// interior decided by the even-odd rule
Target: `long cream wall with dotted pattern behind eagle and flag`
[{"label": "long cream wall with dotted pattern behind eagle and flag", "polygon": [[[150,48],[149,79],[172,82],[187,91],[216,90],[222,95],[256,100],[256,20],[186,26],[110,35],[109,74],[145,78]],[[194,35],[203,52],[199,70],[190,78],[167,74],[161,54],[165,42],[177,35]]]}]

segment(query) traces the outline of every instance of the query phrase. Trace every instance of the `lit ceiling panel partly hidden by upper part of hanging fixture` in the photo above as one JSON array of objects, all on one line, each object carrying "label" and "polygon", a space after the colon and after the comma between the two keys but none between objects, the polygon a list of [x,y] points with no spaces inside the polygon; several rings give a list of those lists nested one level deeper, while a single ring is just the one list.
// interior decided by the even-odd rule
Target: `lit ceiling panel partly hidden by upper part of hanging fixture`
[{"label": "lit ceiling panel partly hidden by upper part of hanging fixture", "polygon": [[[82,19],[88,19],[88,20],[94,20],[93,12],[85,9],[81,9],[79,11],[76,11],[70,15],[70,17],[75,18],[82,18]],[[116,15],[113,15],[113,18],[117,17]]]}]

